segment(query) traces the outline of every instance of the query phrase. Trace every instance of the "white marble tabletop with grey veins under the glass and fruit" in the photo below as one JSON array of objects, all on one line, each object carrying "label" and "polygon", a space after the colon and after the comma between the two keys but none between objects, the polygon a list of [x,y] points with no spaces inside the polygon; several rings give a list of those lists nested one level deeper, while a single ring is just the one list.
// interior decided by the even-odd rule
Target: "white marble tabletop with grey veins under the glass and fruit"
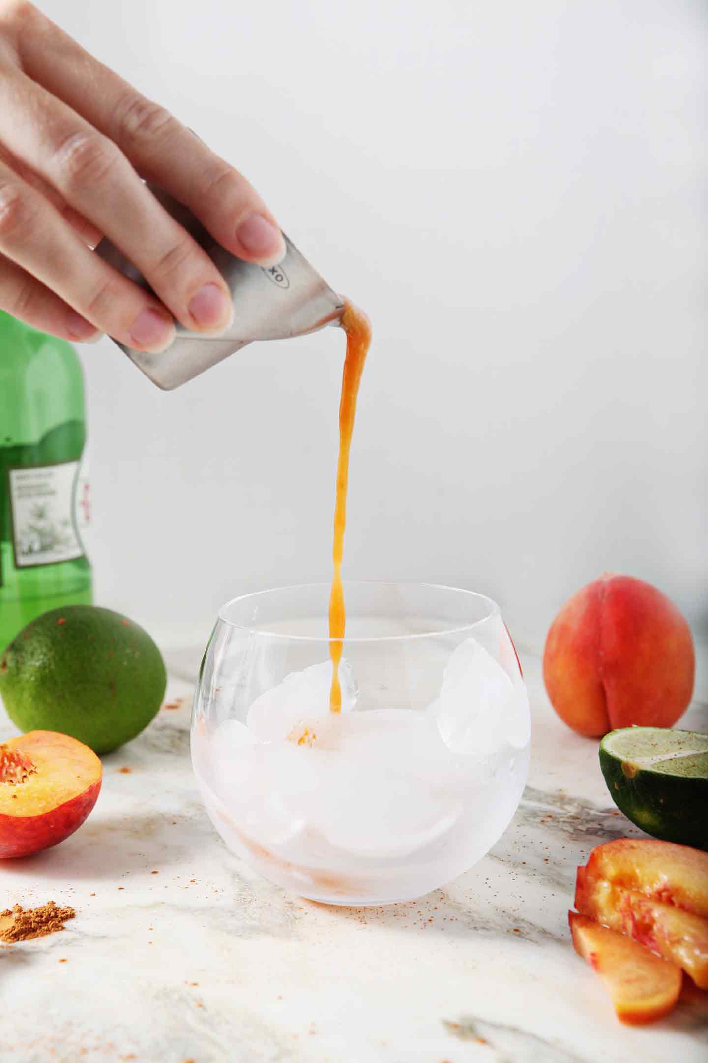
[{"label": "white marble tabletop with grey veins under the glass and fruit", "polygon": [[[462,878],[386,909],[286,896],[227,851],[189,762],[194,660],[171,656],[170,699],[185,701],[105,758],[87,823],[0,868],[2,907],[53,899],[77,913],[62,933],[0,950],[1,1060],[708,1058],[708,994],[654,1026],[624,1027],[572,949],[575,865],[600,841],[639,831],[608,799],[597,742],[550,709],[537,659],[523,661],[533,756],[514,823]],[[681,725],[708,729],[706,708]],[[0,738],[11,733],[5,721]]]}]

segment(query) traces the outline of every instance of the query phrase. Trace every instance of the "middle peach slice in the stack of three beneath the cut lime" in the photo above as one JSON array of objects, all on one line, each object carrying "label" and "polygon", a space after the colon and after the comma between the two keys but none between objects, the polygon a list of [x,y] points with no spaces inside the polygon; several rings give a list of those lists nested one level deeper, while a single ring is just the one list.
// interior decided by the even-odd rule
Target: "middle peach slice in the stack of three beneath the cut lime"
[{"label": "middle peach slice in the stack of three beneath the cut lime", "polygon": [[585,867],[577,868],[575,908],[678,964],[696,985],[708,989],[708,919],[591,878]]}]

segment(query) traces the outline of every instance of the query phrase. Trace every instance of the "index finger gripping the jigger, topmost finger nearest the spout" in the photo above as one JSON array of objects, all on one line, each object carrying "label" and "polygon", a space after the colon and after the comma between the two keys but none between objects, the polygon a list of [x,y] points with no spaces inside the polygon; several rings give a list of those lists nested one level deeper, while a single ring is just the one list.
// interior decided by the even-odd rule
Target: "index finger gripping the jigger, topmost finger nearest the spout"
[{"label": "index finger gripping the jigger, topmost finger nearest the spout", "polygon": [[18,36],[25,72],[115,141],[142,176],[185,203],[232,254],[261,266],[281,261],[282,234],[246,179],[33,12],[32,32]]}]

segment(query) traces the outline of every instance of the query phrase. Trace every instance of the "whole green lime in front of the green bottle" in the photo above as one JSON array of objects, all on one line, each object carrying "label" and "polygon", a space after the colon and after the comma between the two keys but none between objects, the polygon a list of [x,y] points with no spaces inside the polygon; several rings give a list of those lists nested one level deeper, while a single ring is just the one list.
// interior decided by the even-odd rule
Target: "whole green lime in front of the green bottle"
[{"label": "whole green lime in front of the green bottle", "polygon": [[71,735],[98,754],[139,735],[166,686],[165,662],[148,632],[99,606],[42,613],[0,657],[0,695],[20,730]]}]

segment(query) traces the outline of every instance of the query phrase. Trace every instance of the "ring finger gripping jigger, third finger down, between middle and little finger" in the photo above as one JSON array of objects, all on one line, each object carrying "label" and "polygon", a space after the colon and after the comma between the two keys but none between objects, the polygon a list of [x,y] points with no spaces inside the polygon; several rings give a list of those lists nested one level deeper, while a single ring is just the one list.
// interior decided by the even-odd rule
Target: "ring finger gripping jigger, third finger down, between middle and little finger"
[{"label": "ring finger gripping jigger, third finger down, between middle and little finger", "polygon": [[[58,210],[3,163],[0,253],[127,347],[157,353],[172,342],[174,322],[165,307],[94,255]],[[29,304],[38,299],[29,290],[23,298]]]}]

